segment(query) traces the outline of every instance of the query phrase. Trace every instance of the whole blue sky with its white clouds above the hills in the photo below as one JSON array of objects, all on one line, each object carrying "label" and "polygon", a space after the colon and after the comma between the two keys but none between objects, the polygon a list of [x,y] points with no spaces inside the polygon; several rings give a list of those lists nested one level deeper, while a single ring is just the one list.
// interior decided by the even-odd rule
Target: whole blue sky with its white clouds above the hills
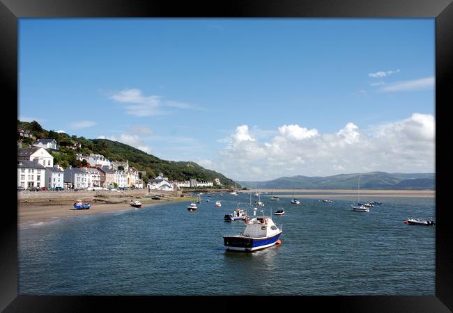
[{"label": "whole blue sky with its white clouds above the hills", "polygon": [[18,116],[45,129],[242,180],[434,171],[435,19],[20,19],[19,36]]}]

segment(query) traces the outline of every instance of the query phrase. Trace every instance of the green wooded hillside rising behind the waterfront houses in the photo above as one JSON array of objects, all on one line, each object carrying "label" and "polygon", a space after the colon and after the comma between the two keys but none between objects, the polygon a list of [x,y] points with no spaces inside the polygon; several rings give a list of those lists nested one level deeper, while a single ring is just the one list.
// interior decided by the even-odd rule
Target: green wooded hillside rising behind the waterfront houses
[{"label": "green wooded hillside rising behind the waterfront houses", "polygon": [[[192,161],[167,161],[159,159],[158,157],[147,154],[135,147],[125,145],[124,143],[118,143],[117,141],[110,141],[108,139],[86,139],[75,135],[69,136],[65,133],[57,133],[52,130],[47,131],[36,121],[20,122],[18,120],[17,129],[29,130],[36,138],[55,139],[59,146],[59,152],[49,152],[54,157],[54,163],[61,165],[63,168],[68,168],[68,166],[79,166],[81,164],[75,157],[76,153],[82,153],[83,155],[94,153],[102,154],[111,161],[128,160],[130,166],[146,172],[146,175],[142,175],[141,177],[144,179],[145,183],[148,182],[148,179],[152,179],[162,173],[170,180],[183,181],[197,179],[198,181],[213,181],[213,179],[219,178],[224,186],[229,187],[235,184],[232,179],[225,177],[221,173],[203,168]],[[17,139],[19,139],[19,137]],[[33,142],[34,140],[32,138],[24,138],[22,144],[26,147]],[[82,147],[73,150],[73,143],[80,143]],[[238,185],[238,188],[240,188],[240,185]]]}]

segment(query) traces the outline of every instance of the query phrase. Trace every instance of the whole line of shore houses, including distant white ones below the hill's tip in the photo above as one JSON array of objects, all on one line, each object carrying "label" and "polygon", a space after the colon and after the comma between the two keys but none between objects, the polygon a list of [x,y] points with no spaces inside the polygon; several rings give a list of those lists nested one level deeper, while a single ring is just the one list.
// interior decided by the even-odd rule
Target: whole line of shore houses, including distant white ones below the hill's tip
[{"label": "whole line of shore houses, including distant white ones below the hill's tip", "polygon": [[[110,161],[102,154],[84,156],[76,154],[79,161],[86,161],[86,167],[66,168],[54,165],[54,157],[47,152],[56,150],[56,142],[40,140],[35,147],[18,148],[17,150],[17,183],[22,188],[77,188],[89,189],[94,187],[144,188],[137,168],[129,166],[128,161]],[[142,172],[143,174],[144,172]],[[170,182],[163,174],[150,179],[148,189],[162,191],[177,191],[181,188],[212,187],[220,184],[220,179],[214,182],[197,182],[190,179],[184,182]]]}]

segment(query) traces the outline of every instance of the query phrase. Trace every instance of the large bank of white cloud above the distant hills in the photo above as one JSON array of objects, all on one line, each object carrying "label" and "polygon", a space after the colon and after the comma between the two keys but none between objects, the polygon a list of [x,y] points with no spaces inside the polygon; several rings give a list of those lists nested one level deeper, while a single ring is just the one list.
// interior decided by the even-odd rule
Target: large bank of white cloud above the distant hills
[{"label": "large bank of white cloud above the distant hills", "polygon": [[435,126],[433,115],[414,113],[368,129],[349,122],[330,134],[282,125],[275,136],[259,141],[247,125],[240,125],[230,136],[229,149],[210,162],[213,170],[243,180],[372,170],[434,172]]}]

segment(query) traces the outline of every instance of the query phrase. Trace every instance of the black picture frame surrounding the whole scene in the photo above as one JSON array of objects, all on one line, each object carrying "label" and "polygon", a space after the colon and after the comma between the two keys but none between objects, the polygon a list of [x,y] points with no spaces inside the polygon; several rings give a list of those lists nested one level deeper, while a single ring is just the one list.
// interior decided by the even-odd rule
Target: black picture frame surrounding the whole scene
[{"label": "black picture frame surrounding the whole scene", "polygon": [[[453,4],[451,0],[229,0],[229,1],[137,1],[137,0],[0,0],[0,81],[3,108],[14,107],[17,99],[17,20],[23,17],[432,17],[436,19],[436,134],[447,124],[446,106],[451,101]],[[9,110],[13,112],[13,110]],[[11,113],[13,114],[13,113]],[[5,117],[3,117],[5,118]],[[6,120],[13,121],[13,118]],[[442,126],[441,126],[442,125]],[[10,136],[11,147],[14,136]],[[8,139],[9,140],[9,139]],[[14,141],[14,143],[13,143]],[[9,141],[8,141],[9,143]],[[448,141],[447,141],[448,144]],[[95,309],[158,310],[155,305],[183,310],[200,310],[216,302],[222,307],[240,301],[231,310],[247,310],[247,302],[265,300],[259,310],[286,306],[320,311],[346,312],[450,312],[453,310],[452,241],[447,205],[448,163],[442,145],[436,145],[436,296],[294,296],[284,302],[272,297],[247,296],[24,296],[17,295],[17,211],[4,207],[1,214],[0,310],[4,312],[80,312]],[[445,147],[445,145],[444,145]],[[12,160],[10,160],[12,161]],[[6,163],[10,162],[6,161]],[[445,168],[444,168],[445,166]],[[8,168],[8,166],[6,166]],[[14,171],[14,169],[12,169]],[[14,174],[15,175],[15,174]],[[11,176],[11,177],[14,177]],[[6,185],[8,183],[6,182]],[[16,192],[15,186],[5,186]],[[10,189],[11,188],[11,189]],[[410,279],[410,278],[408,278]],[[205,302],[205,300],[208,300]],[[287,303],[286,300],[290,300]],[[208,305],[206,305],[208,303]],[[149,306],[152,305],[152,306]],[[312,309],[310,309],[312,308]],[[217,309],[216,309],[217,310]]]}]

